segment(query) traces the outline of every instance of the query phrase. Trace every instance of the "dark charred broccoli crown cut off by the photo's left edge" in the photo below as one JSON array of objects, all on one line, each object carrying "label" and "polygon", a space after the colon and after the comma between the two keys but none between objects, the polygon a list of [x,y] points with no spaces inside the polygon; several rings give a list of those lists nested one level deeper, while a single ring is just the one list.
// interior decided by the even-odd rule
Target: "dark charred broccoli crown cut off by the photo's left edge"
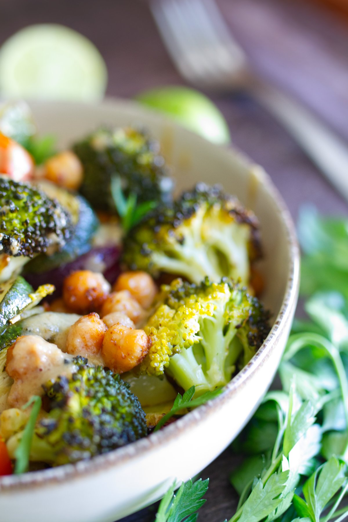
[{"label": "dark charred broccoli crown cut off by the photo's left edge", "polygon": [[0,176],[0,254],[33,257],[65,244],[71,217],[54,199],[27,183]]}]

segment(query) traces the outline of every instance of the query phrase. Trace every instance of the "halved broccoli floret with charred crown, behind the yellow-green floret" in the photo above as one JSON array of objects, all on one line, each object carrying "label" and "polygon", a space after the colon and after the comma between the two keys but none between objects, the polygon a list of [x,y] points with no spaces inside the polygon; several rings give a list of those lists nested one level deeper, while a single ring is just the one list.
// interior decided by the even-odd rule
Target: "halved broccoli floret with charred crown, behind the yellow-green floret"
[{"label": "halved broccoli floret with charred crown, behind the yellow-green floret", "polygon": [[226,276],[248,283],[250,262],[261,256],[256,217],[218,185],[196,185],[169,207],[157,207],[125,239],[132,269],[183,276],[199,283]]}]

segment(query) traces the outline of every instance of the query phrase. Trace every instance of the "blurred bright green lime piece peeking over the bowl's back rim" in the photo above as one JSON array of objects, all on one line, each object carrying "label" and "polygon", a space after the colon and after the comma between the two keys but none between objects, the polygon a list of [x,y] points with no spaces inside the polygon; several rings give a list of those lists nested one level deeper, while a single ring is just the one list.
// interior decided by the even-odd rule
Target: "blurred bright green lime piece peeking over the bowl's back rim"
[{"label": "blurred bright green lime piece peeking over the bowl's back rim", "polygon": [[226,120],[204,94],[188,87],[159,87],[138,94],[136,99],[171,116],[191,131],[220,145],[230,142]]}]

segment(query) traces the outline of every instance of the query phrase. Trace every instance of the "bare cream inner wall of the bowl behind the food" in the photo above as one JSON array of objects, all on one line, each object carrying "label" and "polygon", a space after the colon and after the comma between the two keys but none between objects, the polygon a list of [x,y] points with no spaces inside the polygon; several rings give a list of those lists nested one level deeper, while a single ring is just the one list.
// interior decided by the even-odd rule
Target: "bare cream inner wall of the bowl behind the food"
[{"label": "bare cream inner wall of the bowl behind the food", "polygon": [[54,134],[60,147],[73,143],[100,125],[144,125],[160,141],[161,153],[173,168],[177,192],[204,181],[220,183],[227,192],[235,194],[256,213],[261,224],[264,259],[259,268],[265,279],[262,300],[276,318],[291,270],[288,229],[292,224],[280,196],[258,165],[236,151],[231,153],[224,147],[208,143],[133,102],[120,100],[100,105],[32,102],[31,107],[39,133]]}]

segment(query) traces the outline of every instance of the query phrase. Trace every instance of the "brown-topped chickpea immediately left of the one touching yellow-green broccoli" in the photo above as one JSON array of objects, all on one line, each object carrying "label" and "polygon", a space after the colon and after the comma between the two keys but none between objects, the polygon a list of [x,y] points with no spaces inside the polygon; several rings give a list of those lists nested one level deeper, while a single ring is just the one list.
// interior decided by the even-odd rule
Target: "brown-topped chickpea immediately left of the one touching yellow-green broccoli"
[{"label": "brown-topped chickpea immediately left of the one touching yellow-green broccoli", "polygon": [[99,315],[92,312],[80,317],[68,331],[65,350],[72,355],[90,357],[101,351],[104,334],[107,330]]}]

